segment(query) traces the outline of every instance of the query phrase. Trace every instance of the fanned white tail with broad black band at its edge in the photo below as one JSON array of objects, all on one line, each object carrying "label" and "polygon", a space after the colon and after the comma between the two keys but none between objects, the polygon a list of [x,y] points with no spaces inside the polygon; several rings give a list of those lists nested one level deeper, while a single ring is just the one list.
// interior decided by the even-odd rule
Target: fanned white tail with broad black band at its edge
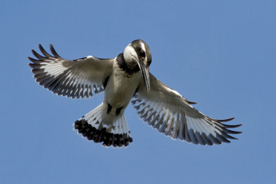
[{"label": "fanned white tail with broad black band at its edge", "polygon": [[88,140],[108,147],[128,146],[132,143],[125,115],[121,114],[113,123],[104,123],[101,119],[101,108],[102,103],[95,110],[75,121],[75,129]]}]

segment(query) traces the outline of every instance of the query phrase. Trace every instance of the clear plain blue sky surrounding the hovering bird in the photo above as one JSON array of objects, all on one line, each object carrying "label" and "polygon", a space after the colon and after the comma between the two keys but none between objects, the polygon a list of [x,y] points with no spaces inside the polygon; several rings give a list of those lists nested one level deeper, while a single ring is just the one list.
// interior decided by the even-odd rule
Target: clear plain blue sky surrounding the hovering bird
[{"label": "clear plain blue sky surrounding the hovering bird", "polygon": [[[1,1],[0,183],[275,183],[275,1]],[[103,94],[76,100],[32,78],[27,57],[111,58],[150,46],[150,72],[239,140],[172,141],[129,105],[133,143],[107,149],[72,130]]]}]

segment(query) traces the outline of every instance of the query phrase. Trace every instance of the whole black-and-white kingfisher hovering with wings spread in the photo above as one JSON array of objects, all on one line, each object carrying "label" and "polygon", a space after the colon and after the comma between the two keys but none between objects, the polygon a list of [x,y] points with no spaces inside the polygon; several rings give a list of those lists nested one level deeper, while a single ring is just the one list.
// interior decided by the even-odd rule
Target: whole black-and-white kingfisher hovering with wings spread
[{"label": "whole black-and-white kingfisher hovering with wings spread", "polygon": [[114,59],[88,56],[67,60],[59,57],[50,45],[52,55],[39,45],[43,56],[32,50],[37,59],[29,63],[39,85],[53,93],[88,98],[104,93],[103,103],[75,121],[75,129],[95,143],[113,147],[132,143],[124,110],[132,103],[148,125],[172,139],[201,145],[230,143],[239,134],[226,125],[232,119],[212,119],[195,108],[177,91],[168,88],[149,72],[151,54],[141,40],[132,41]]}]

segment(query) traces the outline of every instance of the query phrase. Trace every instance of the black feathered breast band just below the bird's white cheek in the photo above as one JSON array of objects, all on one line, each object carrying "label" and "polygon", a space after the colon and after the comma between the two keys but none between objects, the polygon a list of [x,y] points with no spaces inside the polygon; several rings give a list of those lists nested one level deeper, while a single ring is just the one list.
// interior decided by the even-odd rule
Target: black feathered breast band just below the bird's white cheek
[{"label": "black feathered breast band just below the bird's white cheek", "polygon": [[124,59],[124,54],[121,53],[116,58],[118,67],[125,72],[128,76],[132,76],[139,72],[139,65],[135,62],[126,62]]}]

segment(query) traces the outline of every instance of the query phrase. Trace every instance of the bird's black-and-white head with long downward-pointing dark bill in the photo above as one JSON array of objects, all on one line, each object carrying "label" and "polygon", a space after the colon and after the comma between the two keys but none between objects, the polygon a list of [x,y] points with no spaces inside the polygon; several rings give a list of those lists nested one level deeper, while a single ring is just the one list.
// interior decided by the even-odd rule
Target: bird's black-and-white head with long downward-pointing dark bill
[{"label": "bird's black-and-white head with long downward-pointing dark bill", "polygon": [[132,41],[124,50],[124,60],[127,63],[135,62],[139,65],[144,77],[146,90],[150,92],[149,67],[151,63],[151,53],[146,42],[140,39]]}]

